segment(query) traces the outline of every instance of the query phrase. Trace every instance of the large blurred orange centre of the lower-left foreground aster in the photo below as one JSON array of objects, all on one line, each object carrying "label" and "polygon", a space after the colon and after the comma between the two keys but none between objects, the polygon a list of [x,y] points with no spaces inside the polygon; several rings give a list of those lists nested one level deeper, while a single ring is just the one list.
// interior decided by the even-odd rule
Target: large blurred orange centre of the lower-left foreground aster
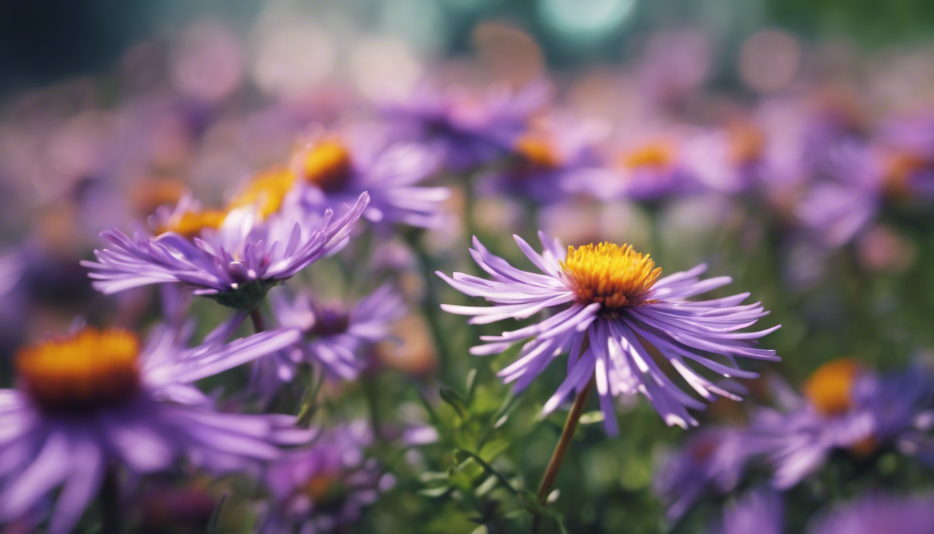
[{"label": "large blurred orange centre of the lower-left foreground aster", "polygon": [[50,411],[125,402],[139,391],[139,340],[127,330],[85,328],[21,349],[13,360],[21,387]]}]

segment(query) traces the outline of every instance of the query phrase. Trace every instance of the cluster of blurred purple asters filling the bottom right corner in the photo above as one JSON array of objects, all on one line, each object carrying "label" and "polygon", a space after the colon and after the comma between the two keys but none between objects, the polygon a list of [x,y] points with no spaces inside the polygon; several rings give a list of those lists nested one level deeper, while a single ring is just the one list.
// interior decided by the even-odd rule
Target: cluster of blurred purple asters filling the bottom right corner
[{"label": "cluster of blurred purple asters filling the bottom right corner", "polygon": [[[779,533],[785,523],[785,493],[812,483],[832,461],[871,471],[884,455],[925,463],[934,458],[928,434],[934,424],[934,382],[924,369],[880,375],[844,358],[817,368],[800,395],[781,379],[771,382],[777,408],[757,408],[745,426],[704,428],[658,470],[656,491],[669,504],[672,518],[682,517],[699,501],[722,500],[745,487],[743,497],[728,503],[722,531],[748,532],[753,525],[749,521],[755,520],[766,532]],[[747,483],[757,471],[769,473],[771,483]],[[829,476],[828,484],[846,482]],[[871,493],[851,511],[815,520],[809,531],[873,532],[884,527],[924,532],[934,527],[930,496]]]}]

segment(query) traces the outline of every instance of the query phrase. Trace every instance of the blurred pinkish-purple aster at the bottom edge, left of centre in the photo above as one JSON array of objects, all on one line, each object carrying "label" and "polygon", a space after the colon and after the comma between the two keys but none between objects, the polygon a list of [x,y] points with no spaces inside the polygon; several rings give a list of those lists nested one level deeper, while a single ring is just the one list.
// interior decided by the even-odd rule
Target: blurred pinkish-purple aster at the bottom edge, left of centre
[{"label": "blurred pinkish-purple aster at the bottom edge, left of centre", "polygon": [[339,531],[356,523],[363,507],[394,483],[365,449],[373,443],[362,421],[336,426],[302,451],[283,456],[266,473],[272,493],[262,534]]}]

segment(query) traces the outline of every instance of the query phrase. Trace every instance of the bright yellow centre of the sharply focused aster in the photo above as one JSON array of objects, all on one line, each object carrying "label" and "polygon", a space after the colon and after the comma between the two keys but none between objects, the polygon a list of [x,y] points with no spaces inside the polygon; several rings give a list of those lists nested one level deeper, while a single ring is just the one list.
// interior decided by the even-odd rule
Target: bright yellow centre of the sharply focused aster
[{"label": "bright yellow centre of the sharply focused aster", "polygon": [[661,267],[648,254],[635,252],[630,245],[593,243],[568,247],[561,269],[571,281],[574,293],[583,302],[599,302],[607,310],[618,310],[651,302],[644,297],[661,274]]}]

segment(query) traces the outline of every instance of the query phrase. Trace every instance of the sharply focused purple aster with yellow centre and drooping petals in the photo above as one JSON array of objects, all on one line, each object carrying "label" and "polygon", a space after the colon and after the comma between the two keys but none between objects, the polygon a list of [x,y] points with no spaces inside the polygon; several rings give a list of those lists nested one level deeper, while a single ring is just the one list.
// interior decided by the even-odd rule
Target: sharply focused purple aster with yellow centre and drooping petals
[{"label": "sharply focused purple aster with yellow centre and drooping petals", "polygon": [[659,368],[658,354],[707,400],[715,394],[738,398],[730,390],[742,388],[732,381],[712,382],[688,362],[725,377],[753,378],[757,373],[736,366],[737,356],[778,359],[774,351],[756,348],[753,340],[778,326],[738,331],[767,313],[758,303],[741,305],[748,294],[687,300],[726,285],[729,277],[701,281],[699,275],[706,269],[701,265],[659,279],[661,269],[655,268],[655,262],[630,246],[604,242],[565,251],[557,240],[549,241],[542,233],[539,238],[544,247],[541,254],[522,238],[516,241],[544,274],[510,266],[474,238],[471,254],[493,280],[463,273],[453,278],[438,275],[460,292],[493,303],[487,308],[442,305],[451,313],[474,315],[473,324],[552,312],[533,325],[484,336],[481,339],[488,343],[471,349],[472,354],[497,354],[525,342],[517,360],[499,373],[504,382],[515,382],[517,390],[528,386],[559,354],[568,353],[567,376],[545,403],[545,413],[594,380],[611,433],[618,431],[613,398],[635,393],[648,397],[667,424],[697,425],[687,409],[701,409],[703,403],[687,395]]}]

